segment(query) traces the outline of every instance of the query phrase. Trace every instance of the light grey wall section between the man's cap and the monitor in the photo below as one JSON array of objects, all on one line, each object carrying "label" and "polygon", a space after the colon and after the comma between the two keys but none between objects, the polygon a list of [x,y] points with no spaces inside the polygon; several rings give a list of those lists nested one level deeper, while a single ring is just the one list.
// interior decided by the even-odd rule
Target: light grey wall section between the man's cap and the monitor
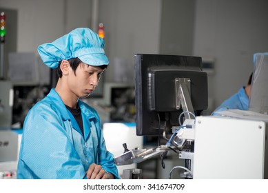
[{"label": "light grey wall section between the man's cap and the monitor", "polygon": [[[110,67],[106,81],[114,81],[114,59],[125,59],[134,73],[134,54],[158,53],[161,0],[101,0],[99,23],[105,25]],[[134,82],[134,79],[133,79]]]}]

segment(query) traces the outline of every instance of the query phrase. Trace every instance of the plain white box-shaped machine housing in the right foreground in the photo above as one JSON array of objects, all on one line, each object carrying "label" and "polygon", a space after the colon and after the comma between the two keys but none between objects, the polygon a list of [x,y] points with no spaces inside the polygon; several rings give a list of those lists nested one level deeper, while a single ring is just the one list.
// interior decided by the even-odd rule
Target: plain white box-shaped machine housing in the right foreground
[{"label": "plain white box-shaped machine housing in the right foreground", "polygon": [[196,117],[194,179],[268,179],[267,123]]}]

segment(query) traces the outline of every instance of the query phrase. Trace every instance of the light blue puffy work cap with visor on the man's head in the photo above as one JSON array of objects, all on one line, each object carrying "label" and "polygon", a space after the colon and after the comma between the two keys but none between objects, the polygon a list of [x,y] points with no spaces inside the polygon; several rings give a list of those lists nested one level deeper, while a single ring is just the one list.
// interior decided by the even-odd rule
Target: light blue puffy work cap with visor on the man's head
[{"label": "light blue puffy work cap with visor on the man's head", "polygon": [[50,68],[57,68],[63,59],[76,57],[87,65],[99,66],[109,64],[104,47],[105,43],[98,34],[89,28],[76,28],[52,43],[39,45],[37,51]]}]

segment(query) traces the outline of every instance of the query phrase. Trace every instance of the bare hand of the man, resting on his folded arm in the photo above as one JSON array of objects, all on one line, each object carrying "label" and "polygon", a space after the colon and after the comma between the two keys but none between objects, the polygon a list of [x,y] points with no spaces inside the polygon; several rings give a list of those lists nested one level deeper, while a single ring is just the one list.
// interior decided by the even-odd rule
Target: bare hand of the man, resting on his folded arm
[{"label": "bare hand of the man, resting on his folded arm", "polygon": [[107,173],[101,165],[96,165],[92,163],[90,168],[87,170],[87,179],[114,179],[114,176],[111,173]]}]

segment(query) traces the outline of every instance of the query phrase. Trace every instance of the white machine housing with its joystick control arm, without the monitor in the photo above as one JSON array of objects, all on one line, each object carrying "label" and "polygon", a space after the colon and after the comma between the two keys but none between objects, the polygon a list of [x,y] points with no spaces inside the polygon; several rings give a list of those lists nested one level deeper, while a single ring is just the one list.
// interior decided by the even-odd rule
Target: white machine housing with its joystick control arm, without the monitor
[{"label": "white machine housing with its joystick control arm, without the monitor", "polygon": [[171,144],[128,150],[115,158],[116,165],[140,163],[173,150],[187,164],[173,167],[169,179],[174,170],[187,179],[268,179],[268,120],[253,114],[251,120],[245,114],[247,119],[197,116],[192,127],[174,133]]}]

